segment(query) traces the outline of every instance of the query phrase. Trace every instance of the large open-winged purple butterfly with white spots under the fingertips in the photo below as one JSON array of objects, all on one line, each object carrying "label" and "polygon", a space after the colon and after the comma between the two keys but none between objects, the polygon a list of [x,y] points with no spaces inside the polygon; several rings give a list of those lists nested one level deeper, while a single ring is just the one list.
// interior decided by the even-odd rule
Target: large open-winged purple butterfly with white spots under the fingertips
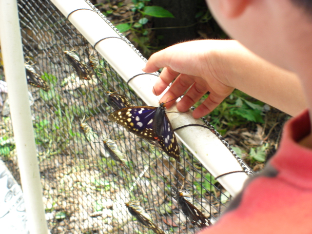
[{"label": "large open-winged purple butterfly with white spots under the fingertips", "polygon": [[161,103],[158,107],[125,107],[111,113],[108,118],[138,137],[156,143],[168,156],[180,161],[180,151],[166,115],[165,103]]}]

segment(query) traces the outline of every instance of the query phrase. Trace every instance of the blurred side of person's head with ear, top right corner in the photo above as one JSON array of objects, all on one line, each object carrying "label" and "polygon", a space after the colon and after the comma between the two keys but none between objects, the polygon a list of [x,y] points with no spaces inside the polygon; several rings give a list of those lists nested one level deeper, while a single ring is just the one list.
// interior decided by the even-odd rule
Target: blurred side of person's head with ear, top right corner
[{"label": "blurred side of person's head with ear, top right corner", "polygon": [[292,71],[298,52],[312,59],[312,0],[206,1],[228,35],[264,59]]}]

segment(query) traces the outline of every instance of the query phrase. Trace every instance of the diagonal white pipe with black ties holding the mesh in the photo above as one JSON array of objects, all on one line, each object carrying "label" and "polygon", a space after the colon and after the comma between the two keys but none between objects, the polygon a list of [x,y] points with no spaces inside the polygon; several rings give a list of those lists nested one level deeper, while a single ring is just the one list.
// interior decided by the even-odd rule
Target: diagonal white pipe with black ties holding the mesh
[{"label": "diagonal white pipe with black ties holding the mesh", "polygon": [[[117,39],[120,36],[96,12],[90,11],[92,8],[88,3],[84,0],[51,1],[65,17],[69,15],[68,20],[92,45],[97,43],[95,49],[125,81],[143,73],[141,68],[145,61],[125,41]],[[98,42],[99,40],[101,41]],[[148,105],[158,106],[158,98],[152,93],[155,80],[154,75],[140,75],[132,79],[129,85]],[[168,111],[173,110],[175,106]],[[203,124],[201,120],[194,119],[191,112],[169,113],[168,117],[174,129],[187,124]],[[177,130],[176,136],[213,176],[242,170],[231,152],[209,129],[186,127]],[[241,190],[247,178],[245,173],[234,173],[222,176],[218,181],[234,196]]]}]

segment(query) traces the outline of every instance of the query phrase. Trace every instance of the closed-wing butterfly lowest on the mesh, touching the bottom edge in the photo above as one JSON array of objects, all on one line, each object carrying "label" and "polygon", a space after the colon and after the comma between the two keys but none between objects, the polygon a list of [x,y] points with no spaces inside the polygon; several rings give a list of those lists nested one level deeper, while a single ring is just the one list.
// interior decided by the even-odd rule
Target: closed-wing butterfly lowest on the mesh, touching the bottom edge
[{"label": "closed-wing butterfly lowest on the mesh, touching the bottom edge", "polygon": [[151,216],[145,213],[143,208],[140,207],[137,203],[138,201],[130,201],[130,202],[125,203],[130,214],[135,216],[137,218],[137,221],[139,221],[141,224],[153,230],[154,233],[165,234],[164,231],[162,231],[152,222]]}]

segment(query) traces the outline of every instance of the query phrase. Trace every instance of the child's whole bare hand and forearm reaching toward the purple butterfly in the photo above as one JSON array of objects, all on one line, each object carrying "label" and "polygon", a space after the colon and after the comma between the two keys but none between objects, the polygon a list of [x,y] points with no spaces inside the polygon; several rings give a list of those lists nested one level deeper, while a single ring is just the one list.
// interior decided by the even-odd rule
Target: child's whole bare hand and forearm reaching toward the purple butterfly
[{"label": "child's whole bare hand and forearm reaching toward the purple butterfly", "polygon": [[[163,67],[154,86],[166,102],[185,93],[177,109],[187,111],[207,91],[208,98],[193,112],[209,114],[234,88],[292,116],[307,107],[299,79],[294,73],[261,59],[235,40],[195,40],[173,45],[151,56],[144,72]],[[169,102],[170,107],[173,102]]]}]

